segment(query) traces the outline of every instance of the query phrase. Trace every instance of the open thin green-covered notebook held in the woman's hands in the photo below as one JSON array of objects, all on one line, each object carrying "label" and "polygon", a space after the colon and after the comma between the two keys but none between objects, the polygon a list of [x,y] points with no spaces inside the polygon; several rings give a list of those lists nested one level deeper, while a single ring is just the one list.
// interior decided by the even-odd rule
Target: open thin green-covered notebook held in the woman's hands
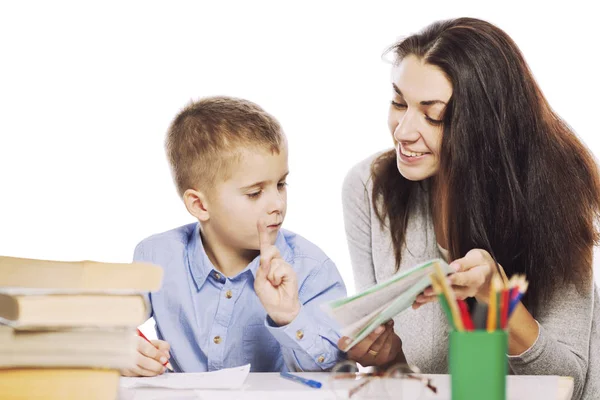
[{"label": "open thin green-covered notebook held in the woman's hands", "polygon": [[324,304],[325,312],[340,324],[341,333],[353,339],[346,351],[409,308],[418,294],[431,285],[429,274],[434,272],[436,263],[446,274],[452,272],[444,260],[436,258],[401,271],[361,293]]}]

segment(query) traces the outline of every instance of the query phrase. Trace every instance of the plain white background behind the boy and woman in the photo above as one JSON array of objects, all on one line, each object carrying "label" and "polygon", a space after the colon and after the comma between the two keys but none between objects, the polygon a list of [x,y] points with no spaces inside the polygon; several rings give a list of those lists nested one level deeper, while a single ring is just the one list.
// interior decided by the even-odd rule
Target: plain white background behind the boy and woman
[{"label": "plain white background behind the boy and woman", "polygon": [[190,100],[224,94],[281,122],[284,226],[318,244],[353,292],[341,184],[391,143],[381,54],[398,37],[450,17],[497,24],[600,154],[598,13],[583,2],[530,3],[3,2],[0,254],[128,262],[141,239],[192,222],[164,135]]}]

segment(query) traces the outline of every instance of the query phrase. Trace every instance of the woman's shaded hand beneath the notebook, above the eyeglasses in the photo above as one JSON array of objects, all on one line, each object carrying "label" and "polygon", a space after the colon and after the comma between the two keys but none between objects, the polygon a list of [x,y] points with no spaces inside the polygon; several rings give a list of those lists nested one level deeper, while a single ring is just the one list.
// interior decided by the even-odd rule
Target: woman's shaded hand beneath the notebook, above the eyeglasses
[{"label": "woman's shaded hand beneath the notebook, above the eyeglasses", "polygon": [[[338,341],[338,348],[344,351],[352,340],[343,336]],[[394,332],[394,320],[377,327],[361,342],[348,351],[348,359],[366,366],[385,366],[395,362],[405,362],[402,353],[402,341]]]}]

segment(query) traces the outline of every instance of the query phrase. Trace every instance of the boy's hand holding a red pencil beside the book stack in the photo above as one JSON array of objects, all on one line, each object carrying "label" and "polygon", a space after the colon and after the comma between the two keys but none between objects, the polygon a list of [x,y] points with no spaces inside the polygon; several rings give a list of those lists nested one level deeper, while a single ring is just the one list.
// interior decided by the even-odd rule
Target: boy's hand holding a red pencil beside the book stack
[{"label": "boy's hand holding a red pencil beside the book stack", "polygon": [[122,369],[123,376],[156,376],[165,372],[163,366],[170,358],[169,350],[171,346],[164,340],[152,340],[148,343],[140,336],[136,336],[137,354],[135,357],[135,366]]}]

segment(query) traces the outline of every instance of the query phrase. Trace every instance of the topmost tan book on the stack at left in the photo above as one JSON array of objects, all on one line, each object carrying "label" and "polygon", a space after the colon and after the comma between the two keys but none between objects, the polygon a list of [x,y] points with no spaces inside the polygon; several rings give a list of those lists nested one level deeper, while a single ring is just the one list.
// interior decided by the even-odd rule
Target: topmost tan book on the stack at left
[{"label": "topmost tan book on the stack at left", "polygon": [[160,288],[162,276],[161,267],[147,263],[48,261],[0,256],[0,287],[152,292]]}]

